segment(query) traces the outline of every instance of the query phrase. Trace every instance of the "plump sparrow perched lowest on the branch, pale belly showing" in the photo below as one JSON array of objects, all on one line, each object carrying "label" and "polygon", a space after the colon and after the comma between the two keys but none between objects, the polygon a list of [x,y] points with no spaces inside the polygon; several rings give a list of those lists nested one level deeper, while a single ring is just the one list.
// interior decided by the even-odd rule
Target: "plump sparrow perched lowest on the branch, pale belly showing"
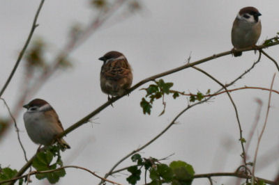
[{"label": "plump sparrow perched lowest on the branch, pale belly showing", "polygon": [[[23,119],[29,138],[40,145],[52,145],[56,136],[64,131],[54,108],[43,99],[33,99],[23,107],[27,108]],[[63,149],[70,148],[63,138],[57,141]]]}]

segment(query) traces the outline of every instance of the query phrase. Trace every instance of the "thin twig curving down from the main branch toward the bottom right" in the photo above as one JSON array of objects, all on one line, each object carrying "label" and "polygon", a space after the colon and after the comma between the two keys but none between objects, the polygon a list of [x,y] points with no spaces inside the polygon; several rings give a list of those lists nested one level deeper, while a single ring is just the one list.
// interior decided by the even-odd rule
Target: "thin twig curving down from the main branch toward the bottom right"
[{"label": "thin twig curving down from the main branch toward the bottom right", "polygon": [[229,100],[232,102],[232,106],[234,106],[234,112],[235,112],[235,114],[236,114],[236,120],[237,120],[237,122],[238,122],[238,124],[239,124],[239,135],[240,135],[239,140],[240,140],[241,148],[242,148],[241,157],[243,158],[243,163],[246,165],[246,152],[245,152],[245,148],[244,148],[244,144],[243,144],[244,142],[243,142],[243,136],[242,136],[241,122],[240,122],[240,120],[239,120],[239,112],[237,111],[236,104],[234,103],[234,100],[232,99],[232,96],[231,96],[231,95],[229,94],[229,92],[227,91],[226,86],[223,85],[223,83],[221,83],[220,81],[218,81],[218,79],[214,78],[211,74],[205,72],[204,70],[202,70],[202,69],[200,69],[200,68],[198,68],[198,67],[193,66],[193,68],[194,68],[195,70],[198,70],[199,72],[202,72],[202,73],[205,74],[207,77],[211,78],[213,81],[216,81],[216,83],[218,83],[220,86],[222,86],[222,87],[225,89],[225,91],[226,91],[226,93],[227,93],[227,95],[228,95],[228,97],[229,97]]}]

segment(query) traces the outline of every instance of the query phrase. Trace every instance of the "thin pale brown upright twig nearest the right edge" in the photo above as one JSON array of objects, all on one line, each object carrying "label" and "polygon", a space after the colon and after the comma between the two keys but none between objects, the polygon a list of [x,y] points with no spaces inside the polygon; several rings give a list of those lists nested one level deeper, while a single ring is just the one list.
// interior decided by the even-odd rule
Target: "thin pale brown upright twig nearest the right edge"
[{"label": "thin pale brown upright twig nearest the right edge", "polygon": [[[276,76],[276,74],[273,74],[273,78],[272,78],[272,81],[271,81],[271,88],[270,88],[271,90],[273,88],[273,83],[274,83],[275,76]],[[256,166],[256,161],[257,161],[257,152],[259,151],[259,143],[261,142],[262,135],[264,134],[264,130],[266,129],[267,118],[269,118],[269,108],[270,108],[270,104],[271,104],[271,94],[272,94],[271,90],[269,92],[269,103],[267,105],[266,118],[264,120],[264,126],[262,127],[261,134],[259,134],[259,139],[257,140],[257,147],[256,147],[256,150],[255,150],[255,156],[254,156],[253,167],[252,167],[252,177],[255,177],[255,166]],[[252,184],[254,184],[254,181],[255,181],[255,179],[252,178]]]}]

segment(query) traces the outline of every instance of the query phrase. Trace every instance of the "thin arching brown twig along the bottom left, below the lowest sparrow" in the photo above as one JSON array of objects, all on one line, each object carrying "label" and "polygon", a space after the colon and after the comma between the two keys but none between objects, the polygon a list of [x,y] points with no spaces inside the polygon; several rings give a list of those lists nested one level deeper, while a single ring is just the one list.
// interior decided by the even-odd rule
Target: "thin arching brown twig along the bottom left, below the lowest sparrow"
[{"label": "thin arching brown twig along the bottom left, below the lowest sparrow", "polygon": [[87,171],[87,172],[90,172],[90,173],[91,173],[92,175],[94,175],[95,177],[98,177],[99,179],[102,179],[104,182],[110,182],[110,183],[112,183],[112,184],[121,185],[121,184],[119,184],[119,183],[117,183],[117,182],[113,182],[113,181],[111,181],[111,180],[109,180],[109,179],[105,179],[105,178],[103,178],[103,177],[100,177],[99,175],[96,175],[95,172],[92,172],[91,170],[89,170],[89,169],[87,169],[87,168],[83,168],[83,167],[80,167],[80,166],[73,166],[73,165],[71,165],[71,166],[62,166],[61,168],[56,168],[56,169],[54,169],[54,170],[32,171],[32,172],[29,172],[27,175],[22,175],[22,176],[20,176],[20,177],[15,177],[15,178],[13,178],[13,179],[8,179],[8,180],[1,181],[0,184],[7,183],[7,182],[13,182],[13,181],[15,181],[15,180],[17,180],[17,179],[23,179],[23,178],[29,177],[29,176],[31,176],[31,175],[43,174],[43,173],[47,173],[47,172],[56,172],[56,171],[59,171],[59,170],[65,169],[65,168],[77,168],[77,169],[85,170],[85,171]]}]

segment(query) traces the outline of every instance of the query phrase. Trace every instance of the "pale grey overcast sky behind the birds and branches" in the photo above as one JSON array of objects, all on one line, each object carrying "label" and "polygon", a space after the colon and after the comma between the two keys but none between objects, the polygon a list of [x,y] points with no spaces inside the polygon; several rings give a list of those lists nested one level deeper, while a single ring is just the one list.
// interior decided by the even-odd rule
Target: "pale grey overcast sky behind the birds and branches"
[{"label": "pale grey overcast sky behind the birds and branches", "polygon": [[[30,31],[39,1],[2,0],[0,4],[0,86],[3,86]],[[185,64],[189,56],[193,62],[232,49],[232,22],[238,11],[245,6],[255,6],[262,13],[262,35],[259,43],[275,36],[279,31],[278,0],[153,0],[142,1],[142,6],[140,12],[126,19],[110,17],[96,33],[70,54],[73,68],[56,73],[33,96],[47,100],[55,108],[65,129],[107,101],[107,95],[100,90],[99,73],[102,62],[98,61],[107,51],[121,51],[128,58],[133,67],[135,84],[153,74]],[[38,18],[40,26],[33,38],[41,37],[46,40],[47,47],[54,56],[66,44],[70,26],[77,22],[86,25],[94,15],[89,1],[45,1]],[[265,51],[278,60],[278,48],[272,47]],[[199,67],[222,83],[229,83],[256,60],[257,55],[249,51],[239,58],[225,56]],[[12,107],[21,93],[19,87],[24,77],[23,67],[24,61],[3,94],[3,98]],[[269,88],[275,72],[277,76],[273,88],[278,90],[278,71],[271,61],[262,56],[261,62],[230,88]],[[163,79],[172,81],[174,89],[186,93],[197,93],[198,90],[206,93],[209,88],[213,92],[220,88],[204,74],[193,69],[183,70]],[[147,86],[148,84],[145,84],[142,88]],[[123,97],[114,103],[114,108],[110,106],[99,113],[93,121],[98,124],[84,124],[68,134],[65,140],[72,148],[63,152],[64,165],[83,166],[103,176],[116,161],[151,140],[177,113],[188,106],[186,97],[176,100],[167,98],[164,115],[158,117],[163,108],[160,101],[153,105],[151,115],[143,115],[140,101],[144,95],[143,91],[133,91],[129,97]],[[262,90],[240,90],[232,93],[239,110],[244,138],[248,138],[248,131],[255,120],[255,99],[259,98],[264,103],[260,125],[248,151],[251,157],[254,156],[256,140],[264,122],[268,97],[269,92]],[[259,168],[256,170],[258,177],[271,180],[278,173],[279,167],[278,101],[279,95],[273,94],[268,124],[259,148]],[[0,113],[7,116],[4,106],[0,106]],[[196,174],[234,172],[241,164],[239,129],[234,108],[227,95],[220,95],[208,103],[191,108],[178,121],[178,124],[140,154],[146,158],[153,156],[160,159],[175,153],[164,162],[186,161],[193,165]],[[27,136],[22,115],[17,119],[17,124],[27,156],[31,157],[38,146]],[[1,140],[0,148],[1,167],[20,169],[24,165],[24,157],[14,129],[10,129],[6,138]],[[273,153],[273,156],[269,157],[271,162],[260,157],[269,150]],[[132,164],[128,159],[119,168]],[[261,168],[263,164],[266,166]],[[66,172],[67,175],[61,179],[60,184],[99,182],[99,179],[88,172],[73,169]],[[128,173],[124,172],[110,179],[127,184],[126,174]],[[234,178],[213,179],[216,184],[234,184]],[[35,177],[32,177],[32,180],[33,184],[38,184]],[[195,179],[193,182],[195,185],[206,183],[207,179]]]}]

